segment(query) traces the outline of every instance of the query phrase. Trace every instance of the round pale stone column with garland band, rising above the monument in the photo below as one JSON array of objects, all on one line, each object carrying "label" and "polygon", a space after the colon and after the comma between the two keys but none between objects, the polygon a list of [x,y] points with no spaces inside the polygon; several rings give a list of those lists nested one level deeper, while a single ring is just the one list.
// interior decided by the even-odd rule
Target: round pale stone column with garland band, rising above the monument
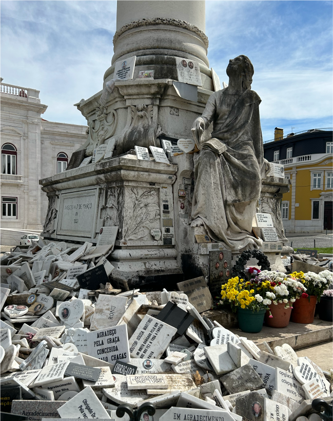
[{"label": "round pale stone column with garland band, rising above the monument", "polygon": [[113,44],[105,82],[113,78],[115,62],[132,56],[134,79],[140,70],[152,69],[154,79],[178,80],[175,57],[181,57],[200,63],[202,87],[213,90],[203,0],[118,1]]}]

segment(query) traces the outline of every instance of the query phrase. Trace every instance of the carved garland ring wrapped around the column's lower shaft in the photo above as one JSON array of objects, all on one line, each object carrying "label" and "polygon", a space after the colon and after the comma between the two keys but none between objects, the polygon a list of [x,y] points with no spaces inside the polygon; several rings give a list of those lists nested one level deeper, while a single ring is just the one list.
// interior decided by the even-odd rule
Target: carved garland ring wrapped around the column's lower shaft
[{"label": "carved garland ring wrapped around the column's lower shaft", "polygon": [[180,19],[172,19],[170,17],[152,17],[151,19],[140,19],[140,21],[133,21],[124,26],[122,26],[118,31],[115,32],[113,36],[113,44],[117,42],[120,35],[126,32],[128,29],[139,28],[141,26],[150,26],[150,25],[172,25],[178,26],[189,31],[195,32],[203,40],[206,47],[208,47],[208,38],[207,35],[199,29],[197,26],[192,25],[188,22],[181,21]]}]

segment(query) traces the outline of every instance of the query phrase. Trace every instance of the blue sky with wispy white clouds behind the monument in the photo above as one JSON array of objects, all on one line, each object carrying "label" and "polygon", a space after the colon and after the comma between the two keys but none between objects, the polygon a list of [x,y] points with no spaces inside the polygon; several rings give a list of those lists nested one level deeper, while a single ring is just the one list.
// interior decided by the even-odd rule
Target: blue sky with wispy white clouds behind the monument
[{"label": "blue sky with wispy white clouds behind the monument", "polygon": [[[228,82],[230,58],[254,66],[264,141],[332,127],[332,1],[206,1],[210,67]],[[86,124],[73,106],[103,87],[116,1],[1,2],[1,77],[41,91],[43,118]]]}]

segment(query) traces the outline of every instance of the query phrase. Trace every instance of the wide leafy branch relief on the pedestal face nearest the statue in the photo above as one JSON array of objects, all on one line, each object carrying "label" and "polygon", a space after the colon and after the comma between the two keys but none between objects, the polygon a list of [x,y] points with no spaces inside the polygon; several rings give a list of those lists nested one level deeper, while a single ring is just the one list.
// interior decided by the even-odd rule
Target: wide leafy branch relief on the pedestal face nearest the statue
[{"label": "wide leafy branch relief on the pedestal face nearest the statue", "polygon": [[154,222],[160,221],[159,197],[155,189],[132,187],[130,191],[133,208],[127,214],[129,225],[124,229],[123,236],[126,240],[139,240],[150,234],[150,229],[156,226]]}]

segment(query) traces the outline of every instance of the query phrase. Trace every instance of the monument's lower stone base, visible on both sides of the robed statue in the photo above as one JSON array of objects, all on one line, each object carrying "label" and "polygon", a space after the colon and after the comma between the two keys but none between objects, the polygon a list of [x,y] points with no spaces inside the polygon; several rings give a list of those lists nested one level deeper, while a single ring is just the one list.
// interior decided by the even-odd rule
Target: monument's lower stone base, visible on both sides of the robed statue
[{"label": "monument's lower stone base, visible on both sides of the robed statue", "polygon": [[[223,243],[197,242],[195,235],[205,234],[205,230],[190,226],[193,156],[170,159],[172,163],[166,164],[138,160],[127,153],[41,180],[49,198],[41,235],[50,241],[96,244],[101,227],[119,227],[109,257],[114,266],[110,277],[125,289],[144,286],[145,290],[171,290],[177,282],[199,276],[208,282],[210,252],[216,252],[218,259],[222,251],[225,257],[216,280],[222,283],[231,276],[240,251],[229,252],[229,256]],[[281,190],[288,181],[267,177],[263,186]],[[273,199],[279,200],[276,196]],[[281,216],[273,213],[276,209],[274,205],[270,211],[273,221],[279,222]],[[283,271],[281,250],[287,239],[279,240],[264,243],[262,251],[273,270]],[[222,267],[224,261],[227,266]]]}]

